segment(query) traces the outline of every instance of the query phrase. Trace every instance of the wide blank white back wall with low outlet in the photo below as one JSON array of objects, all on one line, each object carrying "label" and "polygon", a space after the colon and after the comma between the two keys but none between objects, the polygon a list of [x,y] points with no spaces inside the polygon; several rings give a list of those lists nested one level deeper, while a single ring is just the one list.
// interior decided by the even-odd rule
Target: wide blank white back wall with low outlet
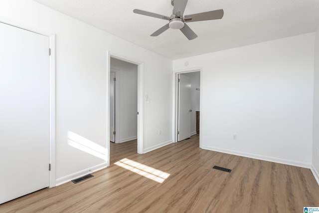
[{"label": "wide blank white back wall with low outlet", "polygon": [[309,168],[314,41],[309,33],[174,60],[173,70],[202,67],[201,147]]}]

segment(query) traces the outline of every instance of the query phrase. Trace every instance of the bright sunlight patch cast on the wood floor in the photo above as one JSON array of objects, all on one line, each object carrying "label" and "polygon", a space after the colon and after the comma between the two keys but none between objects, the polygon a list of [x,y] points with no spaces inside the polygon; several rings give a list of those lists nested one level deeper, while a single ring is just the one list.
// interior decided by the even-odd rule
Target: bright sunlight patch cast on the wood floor
[{"label": "bright sunlight patch cast on the wood floor", "polygon": [[132,161],[130,159],[124,158],[116,163],[115,165],[122,167],[124,169],[130,170],[131,172],[137,173],[141,176],[144,176],[148,179],[156,181],[158,183],[163,183],[170,174],[165,173],[163,171],[154,169],[152,167],[146,166],[144,164],[140,164],[136,161]]}]

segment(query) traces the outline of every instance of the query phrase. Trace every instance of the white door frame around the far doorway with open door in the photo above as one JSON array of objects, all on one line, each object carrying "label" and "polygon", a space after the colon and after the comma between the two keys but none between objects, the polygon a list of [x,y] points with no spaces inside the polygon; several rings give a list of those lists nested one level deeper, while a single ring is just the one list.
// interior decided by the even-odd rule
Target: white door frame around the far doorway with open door
[{"label": "white door frame around the far doorway with open door", "polygon": [[[178,74],[189,73],[189,72],[199,72],[200,73],[200,87],[203,86],[202,77],[202,67],[193,67],[186,69],[173,70],[172,77],[172,141],[177,142],[177,130],[178,130]],[[202,91],[202,90],[200,90]],[[199,94],[199,111],[202,111],[202,92]],[[199,147],[201,148],[201,135],[202,135],[202,113],[199,114]]]}]

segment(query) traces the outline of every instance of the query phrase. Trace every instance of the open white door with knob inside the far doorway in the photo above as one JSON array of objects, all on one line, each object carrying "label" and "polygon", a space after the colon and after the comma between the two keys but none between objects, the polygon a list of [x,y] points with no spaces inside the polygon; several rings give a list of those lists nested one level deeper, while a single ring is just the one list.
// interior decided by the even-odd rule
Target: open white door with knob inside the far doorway
[{"label": "open white door with knob inside the far doorway", "polygon": [[190,137],[191,119],[191,82],[184,74],[178,74],[178,137],[182,141]]}]

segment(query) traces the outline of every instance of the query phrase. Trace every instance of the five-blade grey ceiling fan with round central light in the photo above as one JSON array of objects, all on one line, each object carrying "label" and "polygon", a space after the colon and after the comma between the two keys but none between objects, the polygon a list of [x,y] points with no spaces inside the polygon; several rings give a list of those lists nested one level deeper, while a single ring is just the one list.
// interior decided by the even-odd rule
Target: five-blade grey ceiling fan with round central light
[{"label": "five-blade grey ceiling fan with round central light", "polygon": [[173,5],[174,7],[173,13],[170,17],[160,15],[154,12],[148,12],[141,9],[134,9],[133,12],[169,21],[169,23],[160,27],[160,29],[151,34],[151,36],[158,36],[166,29],[172,28],[179,29],[189,40],[196,38],[197,35],[193,30],[191,30],[191,28],[189,28],[189,26],[185,22],[221,19],[224,15],[223,9],[217,9],[213,11],[201,12],[191,15],[184,15],[186,4],[187,0],[171,0],[171,5]]}]

